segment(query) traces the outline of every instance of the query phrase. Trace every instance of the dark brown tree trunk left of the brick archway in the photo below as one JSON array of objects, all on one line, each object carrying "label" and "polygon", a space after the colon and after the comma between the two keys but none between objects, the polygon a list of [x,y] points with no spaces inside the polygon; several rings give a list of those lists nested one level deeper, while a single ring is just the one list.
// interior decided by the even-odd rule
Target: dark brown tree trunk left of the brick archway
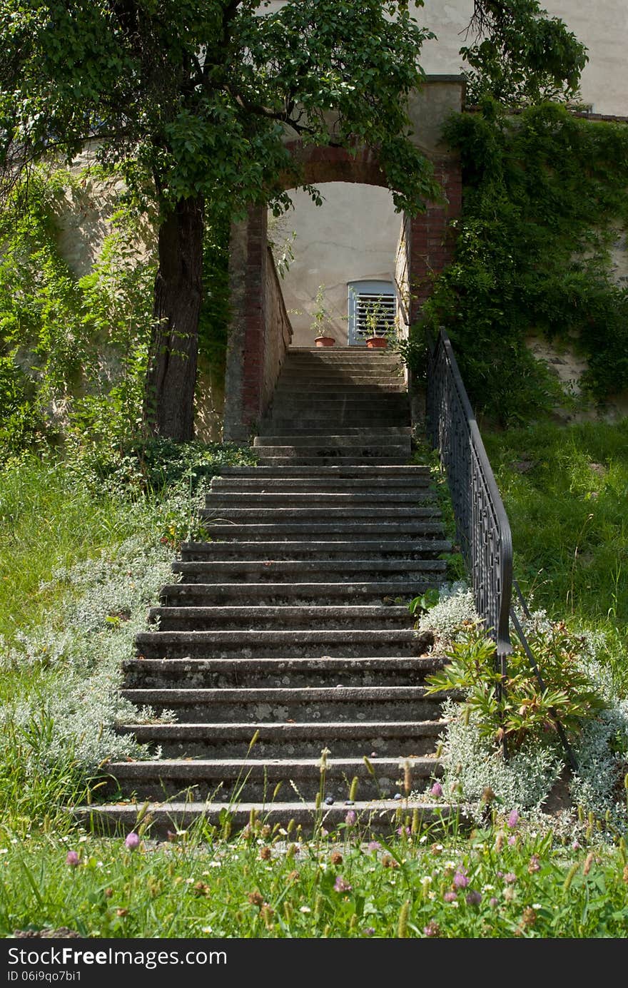
[{"label": "dark brown tree trunk left of the brick archway", "polygon": [[159,228],[144,423],[155,436],[194,438],[194,390],[203,293],[203,199],[179,200]]}]

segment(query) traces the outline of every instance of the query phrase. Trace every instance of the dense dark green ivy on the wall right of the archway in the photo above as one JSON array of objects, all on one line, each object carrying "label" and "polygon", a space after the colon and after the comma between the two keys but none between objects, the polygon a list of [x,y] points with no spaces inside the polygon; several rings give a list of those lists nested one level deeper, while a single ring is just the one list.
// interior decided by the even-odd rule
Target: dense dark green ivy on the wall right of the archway
[{"label": "dense dark green ivy on the wall right of the archway", "polygon": [[445,326],[476,407],[514,423],[556,404],[558,381],[525,345],[533,333],[583,355],[593,398],[628,387],[628,289],[611,260],[628,220],[628,125],[550,103],[508,117],[487,100],[446,136],[463,216],[420,329]]}]

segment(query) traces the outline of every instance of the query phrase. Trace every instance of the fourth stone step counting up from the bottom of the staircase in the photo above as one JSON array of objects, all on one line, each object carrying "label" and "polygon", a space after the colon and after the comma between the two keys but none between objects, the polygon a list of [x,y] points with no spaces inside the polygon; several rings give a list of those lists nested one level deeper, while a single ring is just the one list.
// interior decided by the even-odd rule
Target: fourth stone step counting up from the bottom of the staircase
[{"label": "fourth stone step counting up from the bottom of the staircase", "polygon": [[[259,632],[258,632],[259,633]],[[237,690],[137,690],[121,696],[157,714],[174,710],[181,723],[298,720],[437,720],[444,697],[421,686],[312,687]]]}]

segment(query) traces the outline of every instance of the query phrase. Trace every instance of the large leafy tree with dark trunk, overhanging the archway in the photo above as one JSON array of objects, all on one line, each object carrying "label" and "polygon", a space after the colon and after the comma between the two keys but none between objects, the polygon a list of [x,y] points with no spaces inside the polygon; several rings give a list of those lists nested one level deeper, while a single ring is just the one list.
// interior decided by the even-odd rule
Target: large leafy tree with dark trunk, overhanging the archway
[{"label": "large leafy tree with dark trunk, overhanging the archway", "polygon": [[[438,195],[408,139],[419,86],[421,2],[407,0],[0,0],[0,171],[10,188],[87,141],[158,217],[146,420],[193,435],[202,241],[246,206],[289,205],[286,134],[375,148],[398,208]],[[572,93],[583,46],[536,0],[477,0],[463,49],[478,92]],[[475,37],[475,35],[474,35]],[[484,40],[482,40],[484,39]],[[298,173],[293,184],[299,185]],[[315,196],[315,191],[311,190]]]}]

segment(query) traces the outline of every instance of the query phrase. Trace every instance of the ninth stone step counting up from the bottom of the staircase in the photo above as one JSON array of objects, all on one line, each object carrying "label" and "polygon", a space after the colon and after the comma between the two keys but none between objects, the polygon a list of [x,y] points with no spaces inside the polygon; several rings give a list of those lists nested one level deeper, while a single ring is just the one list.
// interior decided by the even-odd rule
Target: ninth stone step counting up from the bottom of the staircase
[{"label": "ninth stone step counting up from the bottom of the staircase", "polygon": [[[198,583],[223,593],[221,585],[228,588],[237,581],[242,593],[255,594],[256,588],[259,587],[259,593],[262,593],[261,588],[269,583],[298,588],[306,581],[319,590],[321,585],[328,584],[340,592],[341,586],[354,586],[369,580],[380,584],[403,584],[413,593],[418,585],[433,586],[444,579],[446,570],[446,559],[177,560],[172,564],[172,571],[181,574],[183,582],[172,586],[176,592],[176,588]],[[336,582],[332,582],[334,580]],[[170,596],[170,587],[165,587],[163,592]],[[228,593],[228,589],[224,592]]]}]

